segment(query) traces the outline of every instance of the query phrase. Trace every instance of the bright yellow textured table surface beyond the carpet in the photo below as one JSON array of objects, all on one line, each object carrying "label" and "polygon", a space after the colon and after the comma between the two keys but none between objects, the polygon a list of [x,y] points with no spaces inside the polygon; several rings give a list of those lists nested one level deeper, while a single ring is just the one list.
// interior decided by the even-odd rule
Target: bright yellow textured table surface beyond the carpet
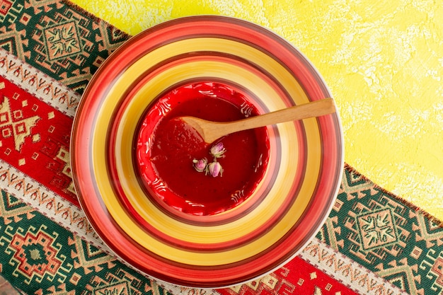
[{"label": "bright yellow textured table surface beyond the carpet", "polygon": [[306,54],[333,93],[345,161],[443,220],[443,5],[430,0],[72,0],[132,35],[181,16],[252,21]]}]

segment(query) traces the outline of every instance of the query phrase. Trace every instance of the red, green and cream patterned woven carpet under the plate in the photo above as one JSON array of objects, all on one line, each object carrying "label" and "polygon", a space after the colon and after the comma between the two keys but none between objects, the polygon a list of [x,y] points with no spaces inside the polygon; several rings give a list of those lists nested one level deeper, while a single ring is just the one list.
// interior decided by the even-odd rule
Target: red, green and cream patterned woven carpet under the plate
[{"label": "red, green and cream patterned woven carpet under the plate", "polygon": [[79,208],[69,139],[81,93],[130,36],[59,0],[0,1],[0,272],[25,294],[443,294],[443,224],[345,166],[316,238],[241,286],[156,282]]}]

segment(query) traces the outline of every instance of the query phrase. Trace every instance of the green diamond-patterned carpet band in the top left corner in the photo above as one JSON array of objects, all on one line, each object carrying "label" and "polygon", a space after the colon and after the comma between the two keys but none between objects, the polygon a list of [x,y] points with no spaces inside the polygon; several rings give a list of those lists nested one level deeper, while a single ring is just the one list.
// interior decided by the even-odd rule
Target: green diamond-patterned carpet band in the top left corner
[{"label": "green diamond-patterned carpet band in the top left corner", "polygon": [[0,47],[78,93],[130,37],[64,1],[0,1]]}]

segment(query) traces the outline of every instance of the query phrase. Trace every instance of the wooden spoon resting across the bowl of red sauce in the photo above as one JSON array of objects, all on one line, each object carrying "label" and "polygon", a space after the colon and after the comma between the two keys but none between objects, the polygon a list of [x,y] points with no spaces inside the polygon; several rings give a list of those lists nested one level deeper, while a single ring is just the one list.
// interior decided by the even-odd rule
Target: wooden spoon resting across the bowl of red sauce
[{"label": "wooden spoon resting across the bowl of red sauce", "polygon": [[180,119],[194,128],[207,144],[211,144],[220,137],[234,132],[309,117],[328,115],[332,112],[335,112],[334,100],[332,98],[324,98],[311,103],[294,105],[291,108],[276,110],[275,112],[268,112],[267,114],[248,117],[233,122],[212,122],[197,117],[180,117]]}]

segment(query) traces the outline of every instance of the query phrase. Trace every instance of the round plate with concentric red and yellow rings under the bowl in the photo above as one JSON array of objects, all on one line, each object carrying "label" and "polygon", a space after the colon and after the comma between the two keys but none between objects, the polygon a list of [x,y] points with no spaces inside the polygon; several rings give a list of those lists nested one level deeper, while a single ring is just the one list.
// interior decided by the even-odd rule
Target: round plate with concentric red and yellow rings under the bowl
[{"label": "round plate with concentric red and yellow rings under the bowl", "polygon": [[266,127],[265,173],[248,198],[180,212],[146,192],[137,140],[148,110],[173,108],[165,93],[201,83],[236,88],[259,113],[330,97],[306,57],[265,28],[222,16],[168,21],[100,66],[75,117],[71,162],[86,216],[115,254],[165,282],[226,287],[282,266],[316,234],[340,186],[343,134],[337,113]]}]

